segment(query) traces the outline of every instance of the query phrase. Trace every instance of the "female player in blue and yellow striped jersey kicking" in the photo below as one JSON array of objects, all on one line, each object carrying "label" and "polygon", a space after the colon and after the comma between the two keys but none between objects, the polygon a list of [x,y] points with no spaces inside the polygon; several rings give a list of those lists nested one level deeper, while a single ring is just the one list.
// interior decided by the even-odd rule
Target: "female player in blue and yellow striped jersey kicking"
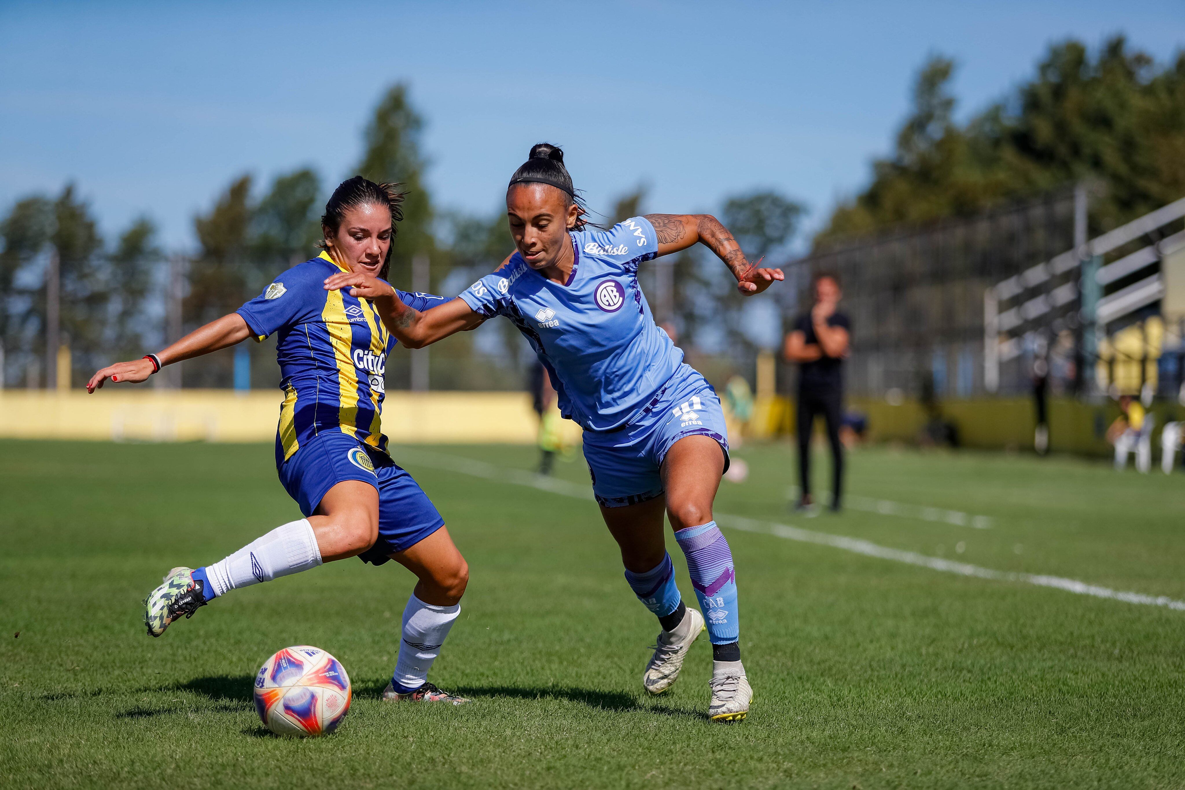
[{"label": "female player in blue and yellow striped jersey kicking", "polygon": [[[104,367],[87,388],[94,392],[107,379],[143,381],[162,365],[277,334],[284,400],[276,468],[305,518],[212,565],[169,571],[145,600],[148,632],[160,636],[181,615],[192,617],[231,590],[321,563],[358,557],[382,565],[393,559],[419,580],[403,612],[399,657],[384,699],[457,705],[467,700],[429,683],[428,669],[460,614],[469,569],[436,507],[386,454],[384,371],[397,341],[365,297],[322,287],[333,274],[386,276],[391,239],[403,218],[397,186],[361,176],[342,182],[321,218],[321,255],[159,354]],[[399,297],[418,309],[444,302],[427,294],[399,291]]]}]

